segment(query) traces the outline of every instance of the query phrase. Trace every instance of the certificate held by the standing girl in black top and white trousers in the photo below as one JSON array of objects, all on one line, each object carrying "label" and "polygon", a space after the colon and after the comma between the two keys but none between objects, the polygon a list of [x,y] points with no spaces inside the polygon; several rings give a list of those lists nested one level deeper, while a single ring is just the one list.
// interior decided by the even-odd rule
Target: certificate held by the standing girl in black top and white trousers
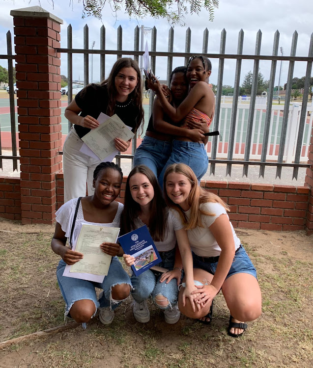
[{"label": "certificate held by the standing girl in black top and white trousers", "polygon": [[114,138],[118,137],[128,141],[134,135],[121,119],[114,114],[98,128],[91,129],[89,133],[83,136],[82,140],[94,154],[103,160],[116,151]]}]

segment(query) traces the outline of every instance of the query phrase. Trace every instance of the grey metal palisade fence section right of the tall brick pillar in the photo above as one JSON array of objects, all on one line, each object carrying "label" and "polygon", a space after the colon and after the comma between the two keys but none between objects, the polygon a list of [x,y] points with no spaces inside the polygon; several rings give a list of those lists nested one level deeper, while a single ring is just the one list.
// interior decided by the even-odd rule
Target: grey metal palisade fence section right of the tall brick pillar
[{"label": "grey metal palisade fence section right of the tall brick pillar", "polygon": [[[117,29],[117,47],[116,50],[106,50],[105,49],[105,27],[102,26],[100,29],[100,49],[99,50],[90,50],[88,49],[88,27],[84,27],[84,49],[73,49],[72,48],[72,27],[68,26],[67,29],[67,48],[57,49],[57,52],[67,53],[68,54],[68,84],[69,86],[72,84],[72,55],[73,53],[83,53],[84,54],[84,67],[85,67],[85,84],[88,84],[88,54],[100,54],[100,75],[101,80],[104,79],[105,76],[105,55],[116,55],[117,58],[122,55],[131,55],[134,56],[135,60],[138,61],[140,55],[143,54],[142,51],[139,51],[139,32],[140,29],[137,26],[134,31],[134,50],[126,51],[122,50],[122,27],[119,26]],[[223,29],[221,32],[221,44],[220,44],[220,53],[207,53],[208,50],[208,30],[207,28],[203,32],[203,43],[202,43],[202,51],[199,52],[202,55],[209,58],[217,58],[219,59],[219,69],[218,69],[218,81],[217,81],[217,94],[216,94],[216,113],[214,117],[213,130],[221,129],[220,126],[220,115],[221,115],[221,103],[222,103],[222,84],[223,84],[223,72],[224,72],[224,61],[225,59],[235,59],[236,60],[236,69],[235,69],[235,79],[234,79],[234,94],[232,97],[232,108],[231,108],[231,117],[230,117],[230,127],[229,127],[229,139],[228,139],[228,153],[227,159],[216,159],[218,152],[218,137],[213,137],[212,139],[212,149],[211,149],[211,158],[210,158],[210,173],[215,173],[215,165],[217,163],[227,163],[226,175],[231,175],[231,165],[232,163],[243,164],[243,176],[248,175],[249,165],[259,165],[260,176],[264,177],[264,168],[265,166],[277,166],[276,177],[281,177],[281,170],[283,166],[292,166],[293,169],[293,178],[297,179],[298,176],[298,168],[299,167],[309,167],[306,163],[300,163],[301,151],[303,147],[303,136],[304,136],[304,128],[306,124],[306,116],[307,116],[307,105],[308,105],[308,95],[309,95],[309,87],[310,87],[310,77],[312,71],[312,62],[313,62],[313,34],[311,35],[311,41],[309,46],[308,56],[295,56],[296,47],[297,47],[297,39],[298,33],[295,31],[292,37],[292,45],[290,56],[278,56],[278,47],[279,47],[279,31],[276,31],[274,36],[274,44],[273,44],[273,52],[272,55],[260,55],[261,48],[261,38],[262,32],[259,30],[256,34],[256,50],[254,55],[243,54],[243,40],[244,40],[244,32],[241,29],[238,36],[238,48],[236,54],[226,54],[225,46],[226,46],[226,30]],[[173,43],[174,43],[174,29],[171,27],[169,30],[169,38],[168,38],[168,52],[157,52],[156,51],[156,40],[157,40],[157,29],[156,27],[152,28],[151,31],[151,50],[149,54],[151,56],[150,66],[152,71],[155,73],[156,66],[156,57],[167,57],[167,80],[170,80],[170,74],[172,70],[172,58],[173,57],[184,57],[185,65],[191,56],[195,53],[190,53],[191,46],[191,30],[190,28],[186,31],[186,41],[185,41],[185,52],[184,53],[173,53]],[[196,53],[197,54],[197,53]],[[235,131],[236,124],[238,123],[238,98],[239,98],[239,84],[240,84],[240,73],[241,73],[241,63],[244,59],[254,60],[254,69],[253,69],[253,83],[252,83],[252,91],[251,97],[249,101],[249,114],[247,121],[247,130],[246,130],[246,140],[245,140],[245,153],[244,159],[242,161],[234,160],[234,143],[235,143]],[[255,111],[256,111],[256,91],[257,91],[257,74],[259,69],[259,61],[260,60],[269,60],[271,61],[271,72],[270,72],[270,81],[269,81],[269,93],[267,95],[266,101],[266,112],[265,112],[265,120],[264,120],[264,129],[262,132],[262,145],[261,145],[261,155],[259,161],[251,161],[253,158],[253,132],[254,132],[254,124],[255,124]],[[268,159],[272,158],[269,154],[269,150],[271,148],[270,145],[270,129],[272,126],[272,116],[273,114],[273,91],[274,91],[274,82],[275,82],[275,73],[276,73],[276,65],[278,60],[285,60],[289,62],[288,67],[288,79],[286,85],[286,96],[285,96],[285,106],[284,113],[282,117],[281,123],[281,131],[280,131],[280,143],[279,143],[279,152],[277,162],[269,162]],[[297,131],[297,142],[294,155],[294,162],[287,163],[285,161],[286,156],[286,142],[287,142],[287,126],[288,126],[288,117],[289,117],[289,103],[291,97],[291,87],[292,87],[292,78],[293,78],[293,68],[294,63],[296,61],[305,61],[307,62],[307,71],[306,71],[306,79],[304,85],[303,92],[303,101],[302,101],[302,109],[300,113],[299,123],[298,123],[298,131]],[[71,94],[69,93],[69,102],[71,100]],[[150,102],[149,102],[149,115],[152,111],[153,104],[153,96],[150,92]],[[274,108],[275,110],[275,108]],[[312,119],[311,119],[312,124]],[[311,134],[311,132],[310,132]],[[133,142],[133,153],[136,145]],[[289,155],[290,156],[290,155]],[[119,156],[121,157],[121,156]],[[123,156],[124,157],[124,156]]]}]

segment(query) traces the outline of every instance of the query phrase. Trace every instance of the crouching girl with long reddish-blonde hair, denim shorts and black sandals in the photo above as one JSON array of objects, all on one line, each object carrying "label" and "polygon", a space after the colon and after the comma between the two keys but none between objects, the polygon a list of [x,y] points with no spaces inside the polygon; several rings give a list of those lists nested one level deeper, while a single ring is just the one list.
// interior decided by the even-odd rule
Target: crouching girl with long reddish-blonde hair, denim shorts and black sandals
[{"label": "crouching girl with long reddish-blonde hair, denim shorts and black sandals", "polygon": [[261,314],[261,292],[256,269],[229,221],[228,206],[202,189],[192,169],[182,163],[167,168],[164,191],[168,206],[179,213],[188,233],[198,285],[193,294],[201,306],[194,312],[188,302],[183,306],[179,300],[180,311],[210,323],[213,298],[222,289],[230,311],[228,335],[242,335],[247,328],[244,321]]}]

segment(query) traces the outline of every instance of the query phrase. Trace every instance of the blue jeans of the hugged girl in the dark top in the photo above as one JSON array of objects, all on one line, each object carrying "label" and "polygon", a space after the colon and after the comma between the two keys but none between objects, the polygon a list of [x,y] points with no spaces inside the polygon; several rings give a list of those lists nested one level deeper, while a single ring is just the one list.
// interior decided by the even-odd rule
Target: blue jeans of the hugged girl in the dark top
[{"label": "blue jeans of the hugged girl in the dark top", "polygon": [[146,165],[158,177],[170,158],[171,142],[145,136],[134,156],[134,166]]}]

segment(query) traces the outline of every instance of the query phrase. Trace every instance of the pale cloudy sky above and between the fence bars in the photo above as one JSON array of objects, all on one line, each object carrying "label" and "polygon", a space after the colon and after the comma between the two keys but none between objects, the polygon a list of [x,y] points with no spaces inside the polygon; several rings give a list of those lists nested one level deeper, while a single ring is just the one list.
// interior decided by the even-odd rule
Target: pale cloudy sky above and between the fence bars
[{"label": "pale cloudy sky above and between the fence bars", "polygon": [[[39,5],[38,0],[0,0],[0,54],[6,54],[6,32],[13,35],[12,9],[26,8]],[[122,26],[122,44],[124,50],[132,50],[134,47],[134,29],[136,26],[155,26],[157,29],[157,51],[168,51],[168,35],[171,25],[163,19],[129,19],[123,11],[116,16],[109,4],[103,10],[102,21],[93,17],[82,19],[82,1],[77,0],[41,0],[40,5],[50,13],[63,20],[61,25],[61,47],[67,47],[67,27],[71,24],[73,29],[73,48],[83,48],[83,28],[87,24],[89,29],[89,47],[95,41],[94,49],[99,49],[100,28],[106,28],[106,49],[116,50],[117,27]],[[284,55],[290,55],[290,47],[293,32],[298,32],[297,56],[308,56],[311,34],[313,32],[312,7],[308,0],[250,0],[233,1],[220,0],[220,6],[215,9],[213,22],[208,21],[208,13],[203,10],[199,15],[187,14],[184,21],[186,26],[174,26],[174,52],[185,51],[185,37],[188,27],[191,29],[191,53],[199,54],[202,51],[202,37],[205,28],[209,31],[208,53],[219,53],[220,38],[223,28],[227,31],[226,53],[237,53],[238,33],[244,31],[244,54],[254,54],[256,33],[262,32],[261,54],[271,55],[273,40],[276,30],[280,32],[279,46],[283,47]],[[148,41],[150,49],[151,34],[144,35],[144,44]],[[14,44],[14,42],[12,42]],[[106,77],[116,60],[115,55],[106,56]],[[211,59],[212,74],[210,82],[217,83],[218,59]],[[243,60],[241,68],[241,82],[246,73],[253,70],[253,60]],[[184,58],[173,58],[173,68],[184,64]],[[281,85],[287,80],[288,62],[282,65]],[[7,61],[0,59],[0,65],[7,68]],[[294,77],[301,78],[306,73],[306,62],[296,62]],[[235,78],[235,60],[226,60],[224,68],[223,84],[233,85]],[[260,72],[265,79],[269,79],[271,61],[260,61]],[[278,84],[280,61],[277,64],[275,84]],[[167,58],[157,57],[156,75],[160,79],[166,79]],[[61,74],[67,75],[67,55],[61,54]],[[73,79],[84,79],[83,55],[76,54],[73,58]],[[100,79],[100,56],[93,55],[92,81]],[[89,55],[89,82],[91,81],[91,55]]]}]

